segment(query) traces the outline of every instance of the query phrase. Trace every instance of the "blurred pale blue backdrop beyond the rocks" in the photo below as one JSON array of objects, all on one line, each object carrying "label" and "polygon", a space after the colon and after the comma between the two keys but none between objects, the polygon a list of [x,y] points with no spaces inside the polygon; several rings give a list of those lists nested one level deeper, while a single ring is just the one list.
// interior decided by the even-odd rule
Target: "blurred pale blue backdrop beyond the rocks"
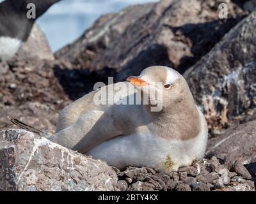
[{"label": "blurred pale blue backdrop beyond the rocks", "polygon": [[40,17],[38,24],[46,34],[52,52],[55,52],[76,40],[100,15],[120,11],[131,4],[156,1],[158,0],[63,0]]}]

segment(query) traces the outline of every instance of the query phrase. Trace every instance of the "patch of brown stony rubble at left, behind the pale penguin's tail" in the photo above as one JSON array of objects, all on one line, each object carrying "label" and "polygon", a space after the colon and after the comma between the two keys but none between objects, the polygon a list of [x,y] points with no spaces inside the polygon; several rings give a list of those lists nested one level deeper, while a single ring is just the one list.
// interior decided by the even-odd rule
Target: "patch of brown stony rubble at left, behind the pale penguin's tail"
[{"label": "patch of brown stony rubble at left, behind the pale penguin's tail", "polygon": [[17,128],[19,119],[37,129],[55,131],[58,113],[71,103],[56,69],[58,61],[15,58],[0,63],[0,129]]}]

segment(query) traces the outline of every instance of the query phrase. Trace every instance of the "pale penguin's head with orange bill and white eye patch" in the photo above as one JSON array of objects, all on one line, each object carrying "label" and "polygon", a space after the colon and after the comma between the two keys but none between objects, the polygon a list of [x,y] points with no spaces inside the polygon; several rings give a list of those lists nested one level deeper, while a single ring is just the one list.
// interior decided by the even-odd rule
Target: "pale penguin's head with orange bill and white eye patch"
[{"label": "pale penguin's head with orange bill and white eye patch", "polygon": [[175,107],[188,96],[192,96],[182,75],[166,66],[150,66],[140,76],[128,77],[127,81],[141,92],[143,100],[148,98],[148,105],[162,104],[163,110]]}]

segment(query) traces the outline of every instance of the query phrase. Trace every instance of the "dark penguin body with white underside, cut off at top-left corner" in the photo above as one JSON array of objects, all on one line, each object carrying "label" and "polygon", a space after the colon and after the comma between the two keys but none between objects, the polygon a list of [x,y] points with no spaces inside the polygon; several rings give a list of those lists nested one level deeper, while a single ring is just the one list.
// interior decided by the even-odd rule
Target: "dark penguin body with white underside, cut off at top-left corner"
[{"label": "dark penguin body with white underside, cut off at top-left corner", "polygon": [[[0,61],[11,59],[28,39],[35,20],[60,0],[6,0],[0,3]],[[36,18],[28,18],[29,3]]]}]

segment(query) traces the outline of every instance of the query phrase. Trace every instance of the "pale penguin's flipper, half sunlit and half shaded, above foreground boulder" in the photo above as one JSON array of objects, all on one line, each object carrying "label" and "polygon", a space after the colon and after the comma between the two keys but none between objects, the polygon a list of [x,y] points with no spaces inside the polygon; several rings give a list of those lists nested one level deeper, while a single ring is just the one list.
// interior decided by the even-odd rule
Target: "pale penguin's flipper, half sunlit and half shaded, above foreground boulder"
[{"label": "pale penguin's flipper, half sunlit and half shaded, above foreground boulder", "polygon": [[85,153],[99,143],[122,135],[111,114],[92,111],[82,115],[74,124],[49,138],[52,142]]}]

